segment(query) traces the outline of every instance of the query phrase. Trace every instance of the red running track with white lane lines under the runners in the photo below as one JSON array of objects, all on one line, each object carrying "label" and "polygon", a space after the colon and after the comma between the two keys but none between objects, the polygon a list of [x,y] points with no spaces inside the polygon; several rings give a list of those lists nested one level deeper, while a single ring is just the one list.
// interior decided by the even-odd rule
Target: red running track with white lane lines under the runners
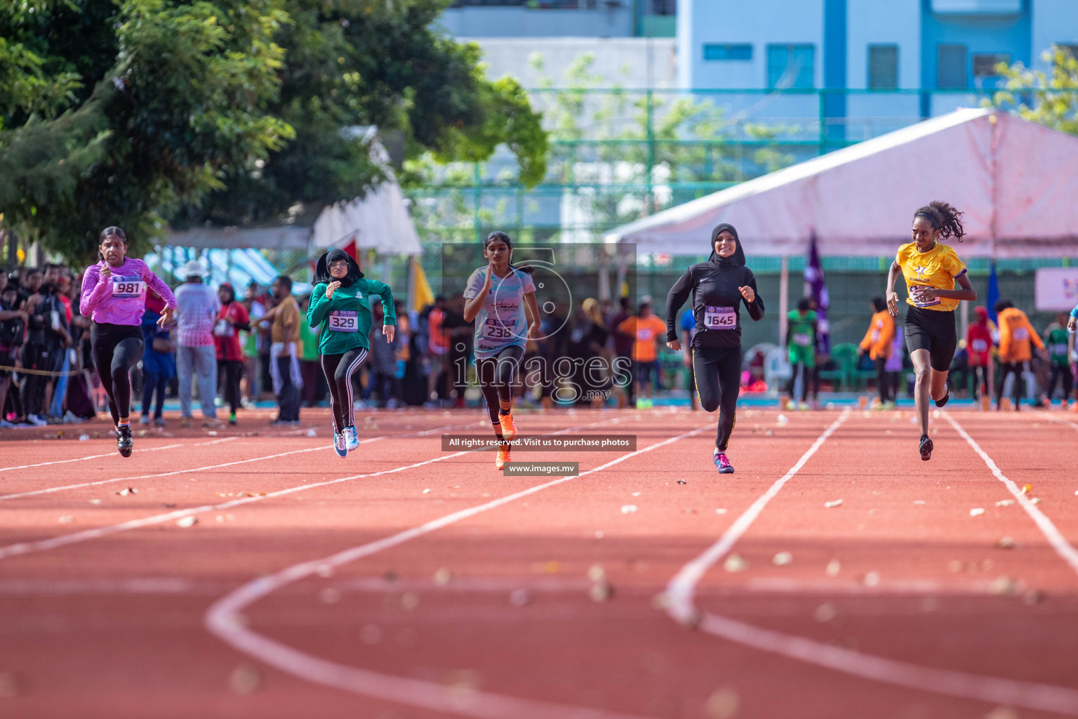
[{"label": "red running track with white lane lines under the runners", "polygon": [[0,716],[1078,716],[1073,415],[743,410],[720,476],[708,415],[521,413],[638,438],[550,479],[305,416],[0,435]]}]

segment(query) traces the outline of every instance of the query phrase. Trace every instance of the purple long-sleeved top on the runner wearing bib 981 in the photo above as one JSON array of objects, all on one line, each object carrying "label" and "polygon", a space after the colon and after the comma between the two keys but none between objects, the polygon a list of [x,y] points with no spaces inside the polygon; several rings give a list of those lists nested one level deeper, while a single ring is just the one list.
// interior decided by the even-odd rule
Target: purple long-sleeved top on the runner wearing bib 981
[{"label": "purple long-sleeved top on the runner wearing bib 981", "polygon": [[111,268],[108,278],[101,277],[102,267],[105,262],[89,265],[82,278],[79,309],[83,317],[108,324],[140,324],[146,312],[147,286],[161,295],[167,307],[176,308],[176,298],[168,285],[141,260],[125,258],[122,265]]}]

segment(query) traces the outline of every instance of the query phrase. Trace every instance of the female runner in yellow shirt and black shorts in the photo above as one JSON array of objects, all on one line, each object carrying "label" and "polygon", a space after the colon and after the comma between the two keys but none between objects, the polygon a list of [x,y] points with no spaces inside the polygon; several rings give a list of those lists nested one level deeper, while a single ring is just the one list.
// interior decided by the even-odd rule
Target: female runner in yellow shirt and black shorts
[{"label": "female runner in yellow shirt and black shorts", "polygon": [[[921,458],[931,459],[932,441],[928,438],[928,398],[943,406],[951,397],[946,373],[958,345],[954,310],[959,300],[977,300],[966,265],[958,254],[940,241],[955,237],[962,241],[962,212],[951,205],[932,202],[913,216],[913,241],[898,248],[887,273],[887,309],[898,315],[895,280],[906,278],[910,307],[906,312],[906,346],[910,350],[916,385],[913,398],[921,423]],[[957,282],[958,289],[955,289]]]}]

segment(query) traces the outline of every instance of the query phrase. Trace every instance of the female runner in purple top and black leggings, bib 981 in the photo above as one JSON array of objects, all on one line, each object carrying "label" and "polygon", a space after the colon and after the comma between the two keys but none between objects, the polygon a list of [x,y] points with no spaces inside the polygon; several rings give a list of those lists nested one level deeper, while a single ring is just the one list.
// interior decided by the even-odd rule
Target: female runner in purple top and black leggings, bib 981
[{"label": "female runner in purple top and black leggings, bib 981", "polygon": [[83,317],[94,320],[89,348],[101,386],[109,396],[109,412],[116,425],[116,448],[122,456],[130,457],[135,440],[127,417],[132,403],[129,372],[142,357],[146,288],[153,288],[165,301],[165,310],[157,320],[162,327],[172,321],[176,298],[144,262],[126,255],[124,231],[120,227],[102,230],[97,254],[100,261],[86,267],[79,308]]}]

